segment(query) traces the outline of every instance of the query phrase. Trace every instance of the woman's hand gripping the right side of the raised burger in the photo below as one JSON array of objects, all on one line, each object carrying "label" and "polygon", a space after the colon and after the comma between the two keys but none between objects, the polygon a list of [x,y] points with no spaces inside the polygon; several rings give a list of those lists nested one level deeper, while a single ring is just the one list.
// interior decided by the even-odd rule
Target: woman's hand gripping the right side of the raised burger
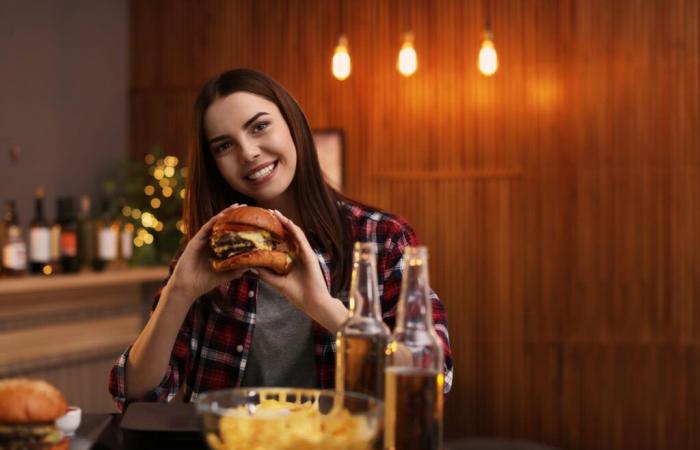
[{"label": "woman's hand gripping the right side of the raised burger", "polygon": [[274,211],[274,214],[290,234],[297,247],[297,255],[288,274],[279,275],[259,268],[256,270],[258,276],[323,327],[331,332],[337,331],[347,319],[347,309],[328,292],[318,256],[301,228],[281,212]]}]

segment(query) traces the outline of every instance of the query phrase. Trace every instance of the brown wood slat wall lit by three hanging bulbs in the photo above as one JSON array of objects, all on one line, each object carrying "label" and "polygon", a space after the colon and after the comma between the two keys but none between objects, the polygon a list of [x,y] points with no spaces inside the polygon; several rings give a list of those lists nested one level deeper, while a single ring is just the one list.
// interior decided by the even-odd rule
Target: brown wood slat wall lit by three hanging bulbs
[{"label": "brown wood slat wall lit by three hanging bulbs", "polygon": [[[131,2],[131,151],[183,154],[198,88],[232,67],[346,133],[346,192],[430,246],[456,361],[447,435],[567,449],[700,445],[700,7],[485,2]],[[419,69],[395,69],[412,28]]]}]

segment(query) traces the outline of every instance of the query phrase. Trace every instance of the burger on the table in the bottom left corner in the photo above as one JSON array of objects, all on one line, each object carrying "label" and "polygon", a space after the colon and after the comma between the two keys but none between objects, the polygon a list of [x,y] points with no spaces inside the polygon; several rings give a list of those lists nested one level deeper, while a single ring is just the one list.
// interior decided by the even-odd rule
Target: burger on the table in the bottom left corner
[{"label": "burger on the table in the bottom left corner", "polygon": [[68,411],[63,394],[41,380],[0,380],[0,448],[68,450],[55,420]]}]

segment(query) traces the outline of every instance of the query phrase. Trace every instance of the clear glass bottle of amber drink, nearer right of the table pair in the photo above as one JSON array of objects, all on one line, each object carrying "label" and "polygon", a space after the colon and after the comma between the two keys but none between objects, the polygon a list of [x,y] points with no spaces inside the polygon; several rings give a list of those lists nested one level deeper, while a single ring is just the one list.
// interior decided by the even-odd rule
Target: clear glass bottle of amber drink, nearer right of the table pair
[{"label": "clear glass bottle of amber drink, nearer right of the table pair", "polygon": [[387,346],[385,450],[442,449],[443,348],[435,332],[428,250],[406,247],[396,328]]}]

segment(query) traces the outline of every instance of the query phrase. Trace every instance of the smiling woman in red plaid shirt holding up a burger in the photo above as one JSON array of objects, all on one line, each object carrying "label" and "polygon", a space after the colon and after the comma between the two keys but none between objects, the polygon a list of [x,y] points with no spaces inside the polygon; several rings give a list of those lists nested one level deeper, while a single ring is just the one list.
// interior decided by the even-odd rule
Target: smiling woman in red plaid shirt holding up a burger
[{"label": "smiling woman in red plaid shirt holding up a burger", "polygon": [[[326,184],[304,113],[262,73],[232,70],[209,81],[195,105],[195,132],[187,244],[145,328],[112,368],[110,392],[122,408],[132,400],[170,400],[178,392],[190,401],[240,385],[332,387],[353,243],[377,243],[382,312],[393,328],[401,256],[404,247],[417,244],[415,233],[403,219]],[[294,239],[299,255],[289,274],[209,268],[213,221],[243,204],[273,210]],[[432,303],[447,392],[447,320],[434,293]]]}]

